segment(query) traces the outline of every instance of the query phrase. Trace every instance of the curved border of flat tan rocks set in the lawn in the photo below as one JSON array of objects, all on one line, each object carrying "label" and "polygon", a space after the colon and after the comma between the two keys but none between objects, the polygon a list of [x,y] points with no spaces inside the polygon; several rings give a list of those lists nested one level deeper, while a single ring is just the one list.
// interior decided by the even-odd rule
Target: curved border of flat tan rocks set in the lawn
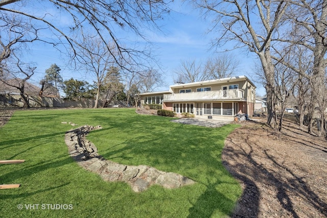
[{"label": "curved border of flat tan rocks set in the lawn", "polygon": [[69,155],[78,165],[90,172],[99,174],[103,180],[126,182],[135,192],[144,191],[153,184],[158,184],[165,188],[179,188],[195,183],[195,181],[187,177],[176,173],[158,171],[154,167],[146,165],[130,166],[105,160],[98,154],[98,149],[94,143],[85,138],[90,131],[98,129],[102,129],[102,127],[85,125],[67,131],[65,143],[68,147]]}]

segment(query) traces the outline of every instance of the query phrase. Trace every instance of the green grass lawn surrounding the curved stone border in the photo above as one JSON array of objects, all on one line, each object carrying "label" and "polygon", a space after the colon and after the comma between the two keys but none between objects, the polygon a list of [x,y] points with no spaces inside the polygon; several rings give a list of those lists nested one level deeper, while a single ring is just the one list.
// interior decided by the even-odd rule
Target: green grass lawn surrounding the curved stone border
[{"label": "green grass lawn surrounding the curved stone border", "polygon": [[[0,184],[21,184],[0,190],[0,217],[228,216],[242,190],[223,167],[221,151],[237,126],[206,128],[170,120],[135,109],[16,111],[0,129],[0,159],[26,162],[0,165]],[[153,166],[197,183],[177,189],[155,185],[135,193],[126,183],[105,182],[68,155],[64,134],[73,127],[61,122],[101,125],[87,138],[106,159]]]}]

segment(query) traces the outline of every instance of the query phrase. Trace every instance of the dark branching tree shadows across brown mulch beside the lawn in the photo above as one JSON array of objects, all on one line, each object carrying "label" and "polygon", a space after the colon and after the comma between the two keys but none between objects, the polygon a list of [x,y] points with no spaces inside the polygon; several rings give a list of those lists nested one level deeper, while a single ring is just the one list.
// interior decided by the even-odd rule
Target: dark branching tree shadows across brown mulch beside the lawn
[{"label": "dark branching tree shadows across brown mulch beside the lawn", "polygon": [[[242,130],[239,134],[236,134],[238,138],[227,139],[228,142],[223,150],[224,165],[244,185],[243,195],[232,217],[259,217],[260,200],[264,199],[264,196],[261,196],[263,193],[261,193],[256,184],[276,190],[273,192],[276,195],[275,199],[278,200],[279,205],[285,210],[278,211],[282,214],[281,216],[287,214],[292,217],[300,217],[302,215],[295,209],[298,206],[294,202],[294,196],[312,205],[314,209],[320,211],[322,216],[327,216],[327,204],[319,198],[303,178],[296,175],[296,169],[294,171],[285,164],[278,163],[277,159],[268,153],[268,149],[262,150],[260,144],[250,140],[253,134],[256,133],[254,131],[249,132],[246,129]],[[262,135],[258,133],[255,137],[260,138]],[[308,146],[307,144],[305,145]],[[254,150],[254,147],[257,147],[257,149]],[[256,153],[258,148],[261,149],[260,152],[263,155]],[[262,163],[258,156],[265,158],[267,163]],[[285,175],[283,171],[286,171],[288,174]]]}]

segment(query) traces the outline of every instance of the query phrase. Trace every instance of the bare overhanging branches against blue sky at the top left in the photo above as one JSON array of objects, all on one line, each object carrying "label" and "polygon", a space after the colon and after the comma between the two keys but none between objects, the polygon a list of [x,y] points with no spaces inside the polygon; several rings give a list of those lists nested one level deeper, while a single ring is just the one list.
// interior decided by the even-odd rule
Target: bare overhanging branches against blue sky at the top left
[{"label": "bare overhanging branches against blue sky at the top left", "polygon": [[[66,47],[66,51],[73,52],[73,58],[83,59],[83,55],[80,57],[78,47],[87,49],[78,36],[83,32],[92,33],[92,37],[97,36],[104,45],[108,45],[107,50],[116,64],[130,70],[144,67],[147,62],[153,60],[150,55],[151,51],[141,47],[139,49],[134,46],[125,47],[115,33],[119,30],[132,31],[138,37],[146,39],[143,30],[158,28],[155,21],[161,19],[163,14],[169,13],[169,3],[169,0],[132,2],[128,0],[49,0],[40,1],[37,5],[40,6],[39,8],[51,10],[35,9],[37,11],[31,11],[33,8],[25,7],[26,1],[1,0],[0,13],[2,16],[16,14],[34,20],[36,25],[50,30],[58,38],[55,41],[43,38],[44,41],[61,42]],[[49,11],[54,11],[54,14]],[[65,23],[69,24],[65,25],[60,22],[61,17],[65,17],[68,20]],[[111,43],[109,44],[108,41],[115,46],[111,47]],[[120,59],[125,59],[126,63],[123,65]]]}]

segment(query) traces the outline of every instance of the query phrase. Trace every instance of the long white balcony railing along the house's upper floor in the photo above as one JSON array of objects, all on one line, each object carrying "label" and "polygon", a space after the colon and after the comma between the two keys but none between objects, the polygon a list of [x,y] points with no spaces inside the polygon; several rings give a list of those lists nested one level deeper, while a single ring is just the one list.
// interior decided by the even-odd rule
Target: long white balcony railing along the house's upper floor
[{"label": "long white balcony railing along the house's upper floor", "polygon": [[164,94],[163,101],[244,99],[241,89]]}]

